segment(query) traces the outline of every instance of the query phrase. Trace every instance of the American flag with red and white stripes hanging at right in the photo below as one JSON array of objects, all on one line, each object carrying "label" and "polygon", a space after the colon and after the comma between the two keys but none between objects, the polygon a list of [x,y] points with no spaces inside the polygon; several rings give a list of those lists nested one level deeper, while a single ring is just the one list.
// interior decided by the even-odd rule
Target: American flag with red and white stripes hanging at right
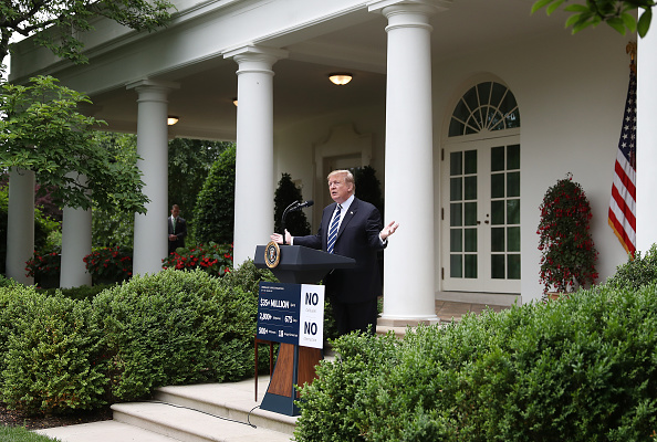
[{"label": "American flag with red and white stripes hanging at right", "polygon": [[629,87],[618,140],[614,183],[609,202],[609,225],[627,253],[636,251],[636,72],[629,70]]}]

